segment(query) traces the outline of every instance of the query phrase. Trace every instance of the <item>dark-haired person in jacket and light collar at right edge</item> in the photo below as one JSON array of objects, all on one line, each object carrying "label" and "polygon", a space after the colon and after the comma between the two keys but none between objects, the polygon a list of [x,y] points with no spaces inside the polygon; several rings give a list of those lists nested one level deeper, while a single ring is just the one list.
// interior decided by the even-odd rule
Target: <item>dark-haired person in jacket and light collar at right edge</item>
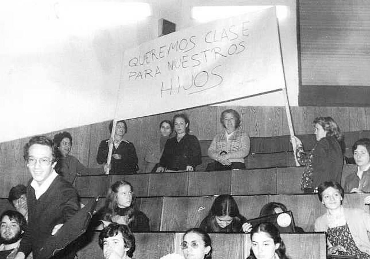
[{"label": "dark-haired person in jacket and light collar at right edge", "polygon": [[354,142],[352,151],[357,169],[344,179],[344,192],[370,192],[370,139]]}]

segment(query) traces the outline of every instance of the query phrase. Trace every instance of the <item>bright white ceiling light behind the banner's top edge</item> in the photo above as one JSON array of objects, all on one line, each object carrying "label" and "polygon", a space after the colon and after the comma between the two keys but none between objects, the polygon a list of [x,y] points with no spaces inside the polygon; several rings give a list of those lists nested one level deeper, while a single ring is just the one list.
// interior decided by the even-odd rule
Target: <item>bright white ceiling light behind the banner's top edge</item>
[{"label": "bright white ceiling light behind the banner's top edge", "polygon": [[[194,6],[191,10],[191,17],[201,23],[238,16],[251,11],[258,11],[273,7],[270,6]],[[276,16],[279,21],[284,20],[288,15],[287,6],[275,6]]]}]

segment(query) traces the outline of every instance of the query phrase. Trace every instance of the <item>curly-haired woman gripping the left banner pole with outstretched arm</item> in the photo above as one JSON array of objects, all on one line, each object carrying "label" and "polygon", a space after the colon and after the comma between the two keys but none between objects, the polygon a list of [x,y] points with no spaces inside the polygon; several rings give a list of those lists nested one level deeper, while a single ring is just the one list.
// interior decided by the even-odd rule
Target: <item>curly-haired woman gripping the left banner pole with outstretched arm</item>
[{"label": "curly-haired woman gripping the left banner pole with outstretched arm", "polygon": [[69,154],[72,148],[72,136],[69,132],[63,131],[56,134],[53,142],[55,154],[58,156],[55,171],[62,175],[68,182],[73,183],[76,175],[96,175],[105,173],[107,165],[104,165],[104,168],[86,168],[77,158]]}]

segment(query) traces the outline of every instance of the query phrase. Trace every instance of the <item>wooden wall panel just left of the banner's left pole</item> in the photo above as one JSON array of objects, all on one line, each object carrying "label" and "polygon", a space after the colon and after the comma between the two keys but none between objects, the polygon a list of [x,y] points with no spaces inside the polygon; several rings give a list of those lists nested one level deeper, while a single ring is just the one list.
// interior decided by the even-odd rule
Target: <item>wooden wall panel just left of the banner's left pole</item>
[{"label": "wooden wall panel just left of the banner's left pole", "polygon": [[89,148],[89,163],[87,167],[102,167],[96,162],[96,155],[98,154],[99,144],[103,139],[110,138],[108,129],[110,121],[104,121],[91,125],[91,137],[90,137],[90,148]]}]

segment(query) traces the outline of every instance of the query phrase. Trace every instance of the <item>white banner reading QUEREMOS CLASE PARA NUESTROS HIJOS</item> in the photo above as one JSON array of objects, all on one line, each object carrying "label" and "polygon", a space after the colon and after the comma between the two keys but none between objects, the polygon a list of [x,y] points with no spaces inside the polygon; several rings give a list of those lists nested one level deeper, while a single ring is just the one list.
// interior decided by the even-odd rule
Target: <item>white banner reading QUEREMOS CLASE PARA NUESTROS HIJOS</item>
[{"label": "white banner reading QUEREMOS CLASE PARA NUESTROS HIJOS", "polygon": [[187,28],[126,50],[115,118],[285,88],[275,8]]}]

